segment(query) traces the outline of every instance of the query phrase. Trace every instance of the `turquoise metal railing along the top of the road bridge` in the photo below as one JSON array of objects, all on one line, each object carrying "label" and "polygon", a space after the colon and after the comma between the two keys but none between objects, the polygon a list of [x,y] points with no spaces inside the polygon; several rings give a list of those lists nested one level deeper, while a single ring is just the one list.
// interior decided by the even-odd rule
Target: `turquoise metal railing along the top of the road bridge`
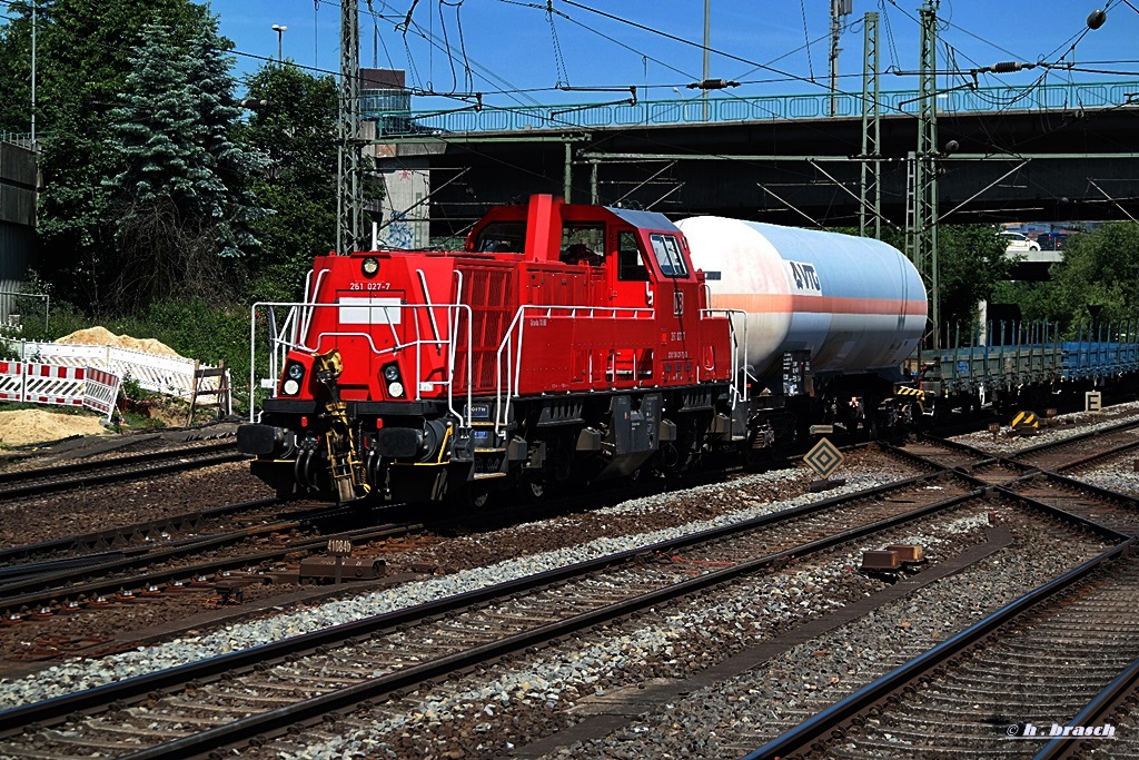
[{"label": "turquoise metal railing along the top of the road bridge", "polygon": [[[917,90],[879,93],[882,113],[916,114]],[[939,93],[937,113],[993,113],[997,111],[1073,111],[1139,105],[1139,81],[1058,83],[1030,87],[993,87]],[[364,112],[378,122],[380,137],[442,132],[522,131],[538,129],[590,129],[653,126],[715,122],[792,121],[798,119],[862,115],[862,93],[822,92],[755,97],[712,97],[707,100],[639,100],[617,104],[557,106],[467,106],[436,111]]]}]

